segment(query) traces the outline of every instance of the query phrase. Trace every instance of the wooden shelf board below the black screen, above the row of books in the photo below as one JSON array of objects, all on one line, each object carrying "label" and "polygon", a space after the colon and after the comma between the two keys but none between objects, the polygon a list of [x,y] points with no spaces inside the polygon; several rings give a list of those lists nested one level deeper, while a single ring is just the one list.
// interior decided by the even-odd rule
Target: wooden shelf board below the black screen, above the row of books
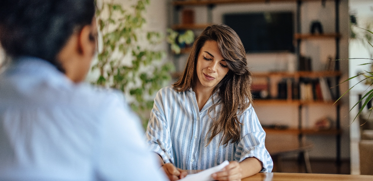
[{"label": "wooden shelf board below the black screen, above the row of books", "polygon": [[340,76],[340,71],[296,71],[296,72],[256,72],[253,77],[334,77]]}]

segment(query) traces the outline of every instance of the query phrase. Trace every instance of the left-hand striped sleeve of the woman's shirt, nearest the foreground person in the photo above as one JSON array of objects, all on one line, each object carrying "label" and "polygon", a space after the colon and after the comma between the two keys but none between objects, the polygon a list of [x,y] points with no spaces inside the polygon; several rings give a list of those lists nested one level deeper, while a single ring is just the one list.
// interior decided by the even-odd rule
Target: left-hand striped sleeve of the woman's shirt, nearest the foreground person
[{"label": "left-hand striped sleeve of the woman's shirt, nearest the foreground person", "polygon": [[157,143],[157,139],[166,148],[171,160],[174,162],[172,142],[170,136],[170,125],[166,119],[162,100],[162,90],[157,93],[154,99],[154,106],[150,115],[146,130],[146,139],[150,150],[159,154],[165,163],[169,162],[165,153]]}]

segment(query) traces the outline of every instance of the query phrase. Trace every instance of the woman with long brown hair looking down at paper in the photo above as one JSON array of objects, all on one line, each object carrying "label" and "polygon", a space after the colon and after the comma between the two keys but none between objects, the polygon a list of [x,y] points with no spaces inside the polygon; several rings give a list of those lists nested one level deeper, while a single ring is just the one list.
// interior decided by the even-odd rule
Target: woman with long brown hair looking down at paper
[{"label": "woman with long brown hair looking down at paper", "polygon": [[266,133],[252,107],[251,81],[236,32],[223,24],[205,28],[182,77],[157,93],[146,131],[170,180],[185,177],[183,170],[204,170],[225,160],[229,165],[213,179],[240,181],[272,171]]}]

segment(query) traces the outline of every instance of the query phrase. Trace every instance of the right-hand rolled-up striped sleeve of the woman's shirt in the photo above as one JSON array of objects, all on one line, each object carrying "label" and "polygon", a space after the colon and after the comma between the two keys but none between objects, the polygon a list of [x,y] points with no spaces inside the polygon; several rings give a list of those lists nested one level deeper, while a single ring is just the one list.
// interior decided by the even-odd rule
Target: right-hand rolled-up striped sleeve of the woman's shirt
[{"label": "right-hand rolled-up striped sleeve of the woman's shirt", "polygon": [[240,117],[241,140],[235,150],[235,160],[241,162],[255,157],[262,162],[261,172],[272,172],[273,161],[265,146],[266,132],[263,130],[254,108],[250,106]]}]

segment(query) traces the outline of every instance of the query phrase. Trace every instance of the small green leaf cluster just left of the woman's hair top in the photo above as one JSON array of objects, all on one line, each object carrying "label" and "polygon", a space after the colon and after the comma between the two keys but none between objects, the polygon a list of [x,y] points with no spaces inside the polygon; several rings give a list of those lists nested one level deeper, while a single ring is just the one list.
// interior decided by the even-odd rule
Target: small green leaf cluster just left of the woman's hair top
[{"label": "small green leaf cluster just left of the woman's hair top", "polygon": [[167,42],[175,54],[180,54],[182,48],[189,47],[194,41],[194,33],[191,30],[180,33],[172,29],[167,29]]}]

